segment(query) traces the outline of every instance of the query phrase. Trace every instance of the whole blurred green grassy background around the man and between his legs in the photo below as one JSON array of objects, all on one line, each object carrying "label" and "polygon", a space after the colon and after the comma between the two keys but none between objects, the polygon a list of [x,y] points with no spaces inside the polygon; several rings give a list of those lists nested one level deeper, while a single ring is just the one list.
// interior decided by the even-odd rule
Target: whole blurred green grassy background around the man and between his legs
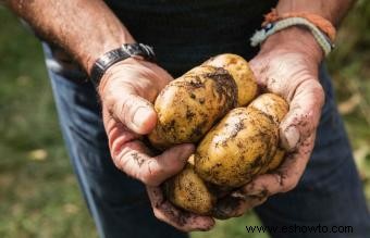
[{"label": "whole blurred green grassy background around the man and between his legs", "polygon": [[[370,204],[370,2],[345,18],[329,60]],[[41,47],[0,7],[0,237],[97,237],[59,130]],[[254,214],[193,238],[252,237]]]}]

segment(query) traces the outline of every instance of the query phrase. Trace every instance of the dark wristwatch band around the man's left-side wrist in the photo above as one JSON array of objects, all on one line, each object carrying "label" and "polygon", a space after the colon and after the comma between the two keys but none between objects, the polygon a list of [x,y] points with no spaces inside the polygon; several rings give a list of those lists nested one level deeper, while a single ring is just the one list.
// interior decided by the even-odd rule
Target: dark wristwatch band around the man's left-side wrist
[{"label": "dark wristwatch band around the man's left-side wrist", "polygon": [[143,57],[146,61],[156,62],[156,54],[152,47],[144,43],[123,43],[120,48],[108,51],[94,63],[90,72],[90,80],[97,87],[101,77],[110,66],[135,55]]}]

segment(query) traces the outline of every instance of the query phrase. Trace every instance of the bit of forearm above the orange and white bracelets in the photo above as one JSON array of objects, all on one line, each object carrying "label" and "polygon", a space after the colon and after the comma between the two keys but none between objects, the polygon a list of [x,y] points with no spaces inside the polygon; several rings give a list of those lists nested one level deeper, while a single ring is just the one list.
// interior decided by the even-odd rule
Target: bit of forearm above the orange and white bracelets
[{"label": "bit of forearm above the orange and white bracelets", "polygon": [[286,12],[309,12],[338,25],[356,0],[280,0],[276,10],[279,14]]}]

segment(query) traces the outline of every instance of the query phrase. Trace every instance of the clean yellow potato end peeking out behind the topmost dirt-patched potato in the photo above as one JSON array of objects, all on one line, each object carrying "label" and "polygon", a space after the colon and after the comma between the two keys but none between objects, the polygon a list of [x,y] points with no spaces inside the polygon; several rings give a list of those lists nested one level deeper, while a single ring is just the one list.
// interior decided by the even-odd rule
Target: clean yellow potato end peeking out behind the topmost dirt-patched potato
[{"label": "clean yellow potato end peeking out behind the topmost dirt-patched potato", "polygon": [[257,96],[257,83],[248,62],[242,57],[224,53],[209,59],[203,65],[211,65],[226,70],[234,78],[238,90],[237,104],[246,105]]}]

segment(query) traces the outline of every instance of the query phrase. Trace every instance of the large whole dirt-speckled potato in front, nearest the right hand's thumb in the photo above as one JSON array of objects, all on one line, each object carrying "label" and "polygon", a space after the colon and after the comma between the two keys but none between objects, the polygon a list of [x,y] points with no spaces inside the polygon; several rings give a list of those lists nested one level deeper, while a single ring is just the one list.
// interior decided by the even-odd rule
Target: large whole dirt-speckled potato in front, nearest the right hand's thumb
[{"label": "large whole dirt-speckled potato in front, nearest the right hand's thumb", "polygon": [[247,184],[275,153],[278,126],[271,116],[237,108],[213,127],[195,153],[195,171],[206,181],[239,187]]}]

